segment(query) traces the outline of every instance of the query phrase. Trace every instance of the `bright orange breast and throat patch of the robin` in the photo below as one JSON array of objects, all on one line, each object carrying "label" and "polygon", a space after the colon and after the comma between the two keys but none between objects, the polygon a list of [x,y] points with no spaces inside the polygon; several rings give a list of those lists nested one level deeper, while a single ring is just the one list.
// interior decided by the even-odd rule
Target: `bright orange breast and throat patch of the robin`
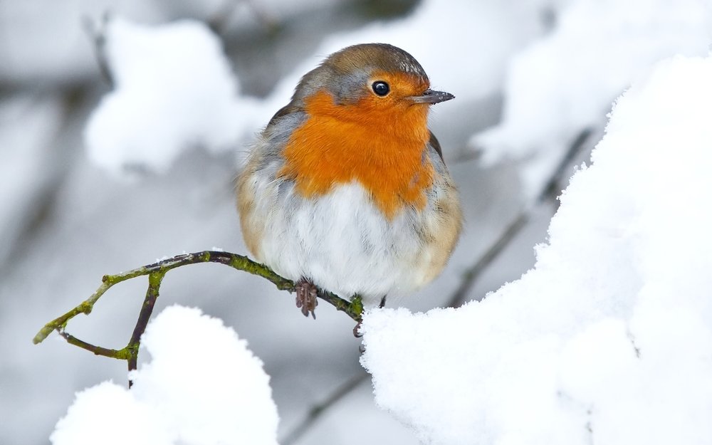
[{"label": "bright orange breast and throat patch of the robin", "polygon": [[322,91],[305,101],[308,118],[284,149],[279,172],[304,197],[318,197],[352,181],[392,219],[404,206],[426,205],[434,169],[426,155],[427,105],[366,98],[335,105]]}]

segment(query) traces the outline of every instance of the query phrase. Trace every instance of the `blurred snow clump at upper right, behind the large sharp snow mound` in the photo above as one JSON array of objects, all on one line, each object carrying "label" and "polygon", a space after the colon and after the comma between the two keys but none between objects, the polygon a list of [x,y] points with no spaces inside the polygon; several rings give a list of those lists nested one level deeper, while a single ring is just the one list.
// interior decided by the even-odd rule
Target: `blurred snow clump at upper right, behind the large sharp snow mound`
[{"label": "blurred snow clump at upper right, behind the large sharp snow mound", "polygon": [[523,191],[538,194],[568,145],[600,127],[609,103],[663,58],[705,56],[712,10],[704,0],[577,0],[549,36],[515,56],[502,122],[471,139],[485,165],[523,161]]}]

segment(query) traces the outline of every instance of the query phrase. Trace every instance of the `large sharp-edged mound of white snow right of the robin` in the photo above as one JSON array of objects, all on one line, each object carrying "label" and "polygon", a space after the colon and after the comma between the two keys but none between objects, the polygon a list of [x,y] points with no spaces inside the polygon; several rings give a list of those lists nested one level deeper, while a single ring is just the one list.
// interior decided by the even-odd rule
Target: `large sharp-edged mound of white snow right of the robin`
[{"label": "large sharp-edged mound of white snow right of the robin", "polygon": [[427,444],[710,444],[712,57],[614,105],[519,280],[460,309],[371,310],[377,404]]}]

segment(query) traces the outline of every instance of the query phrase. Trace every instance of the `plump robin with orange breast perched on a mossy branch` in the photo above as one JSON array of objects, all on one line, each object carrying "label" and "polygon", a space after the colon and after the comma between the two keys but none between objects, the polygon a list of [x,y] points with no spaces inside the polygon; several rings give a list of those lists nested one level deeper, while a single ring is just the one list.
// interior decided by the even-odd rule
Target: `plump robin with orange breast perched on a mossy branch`
[{"label": "plump robin with orange breast perched on a mossy branch", "polygon": [[258,135],[236,184],[241,230],[295,281],[303,315],[319,289],[383,306],[449,261],[461,202],[428,115],[453,98],[406,51],[363,43],[303,75]]}]

